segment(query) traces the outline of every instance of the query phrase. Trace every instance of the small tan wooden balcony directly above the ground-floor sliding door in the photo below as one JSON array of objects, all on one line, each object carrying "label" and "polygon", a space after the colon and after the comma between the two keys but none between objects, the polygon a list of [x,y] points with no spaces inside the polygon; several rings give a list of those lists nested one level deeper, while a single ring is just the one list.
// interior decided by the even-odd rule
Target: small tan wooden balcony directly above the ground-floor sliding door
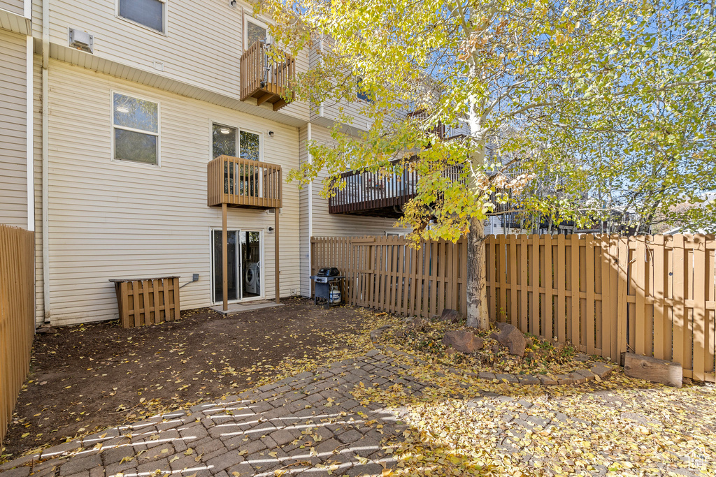
[{"label": "small tan wooden balcony directly above the ground-floor sliding door", "polygon": [[207,166],[208,205],[247,209],[281,208],[281,166],[219,156]]}]

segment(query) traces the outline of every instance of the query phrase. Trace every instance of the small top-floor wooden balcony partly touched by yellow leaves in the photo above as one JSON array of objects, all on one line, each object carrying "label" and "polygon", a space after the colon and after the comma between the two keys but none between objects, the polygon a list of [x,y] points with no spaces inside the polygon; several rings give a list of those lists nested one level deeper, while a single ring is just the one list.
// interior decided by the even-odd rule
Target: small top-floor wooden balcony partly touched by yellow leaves
[{"label": "small top-floor wooden balcony partly touched by yellow leaves", "polygon": [[296,60],[282,53],[284,59],[277,62],[268,50],[269,46],[256,41],[241,55],[241,101],[256,98],[256,104],[268,102],[277,111],[290,102],[286,96],[296,74]]}]

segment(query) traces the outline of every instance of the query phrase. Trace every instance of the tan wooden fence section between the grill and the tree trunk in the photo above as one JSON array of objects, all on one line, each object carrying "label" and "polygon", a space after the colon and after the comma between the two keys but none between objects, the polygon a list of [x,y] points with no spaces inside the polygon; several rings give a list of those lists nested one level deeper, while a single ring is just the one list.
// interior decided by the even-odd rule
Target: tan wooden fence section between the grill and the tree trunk
[{"label": "tan wooden fence section between the grill and the tree trunk", "polygon": [[400,315],[465,313],[465,243],[441,240],[414,249],[403,237],[312,237],[311,272],[338,267],[351,305]]}]

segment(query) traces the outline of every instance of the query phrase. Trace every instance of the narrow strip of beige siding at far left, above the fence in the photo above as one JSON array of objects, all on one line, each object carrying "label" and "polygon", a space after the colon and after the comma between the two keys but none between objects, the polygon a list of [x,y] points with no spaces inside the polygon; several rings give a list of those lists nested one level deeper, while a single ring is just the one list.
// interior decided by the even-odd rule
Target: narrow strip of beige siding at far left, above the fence
[{"label": "narrow strip of beige siding at far left, above the fence", "polygon": [[0,223],[27,228],[27,50],[0,30]]}]

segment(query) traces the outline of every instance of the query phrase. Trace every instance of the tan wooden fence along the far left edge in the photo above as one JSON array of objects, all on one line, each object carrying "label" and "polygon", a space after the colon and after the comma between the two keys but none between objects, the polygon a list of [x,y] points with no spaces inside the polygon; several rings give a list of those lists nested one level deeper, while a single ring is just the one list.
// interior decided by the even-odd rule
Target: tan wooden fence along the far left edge
[{"label": "tan wooden fence along the far left edge", "polygon": [[33,232],[0,225],[0,445],[30,368],[34,250]]}]

